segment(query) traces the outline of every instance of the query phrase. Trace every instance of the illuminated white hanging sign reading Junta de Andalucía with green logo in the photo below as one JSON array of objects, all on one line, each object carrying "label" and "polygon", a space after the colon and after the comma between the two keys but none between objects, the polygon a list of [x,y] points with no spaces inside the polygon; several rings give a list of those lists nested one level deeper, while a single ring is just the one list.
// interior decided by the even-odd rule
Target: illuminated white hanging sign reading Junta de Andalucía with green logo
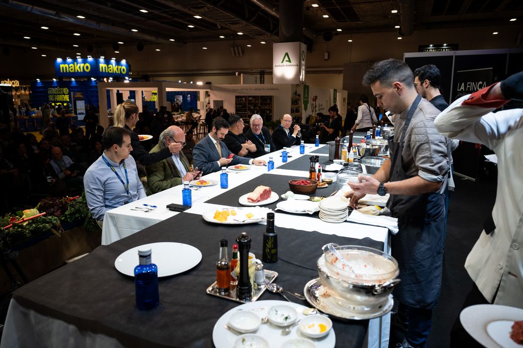
[{"label": "illuminated white hanging sign reading Junta de Andaluc\u00eda with green logo", "polygon": [[272,80],[275,84],[305,82],[306,49],[302,42],[272,44]]}]

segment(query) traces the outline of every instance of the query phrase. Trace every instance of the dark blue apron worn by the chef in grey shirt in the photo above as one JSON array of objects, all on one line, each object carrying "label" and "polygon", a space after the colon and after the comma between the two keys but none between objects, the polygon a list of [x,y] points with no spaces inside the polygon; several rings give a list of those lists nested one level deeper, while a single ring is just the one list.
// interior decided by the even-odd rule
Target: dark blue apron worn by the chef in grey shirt
[{"label": "dark blue apron worn by the chef in grey shirt", "polygon": [[[399,142],[389,140],[390,181],[411,178],[403,169],[405,134],[421,97],[408,111]],[[445,198],[440,193],[391,194],[387,206],[398,219],[399,233],[391,237],[392,256],[400,268],[401,282],[394,298],[416,308],[434,308],[441,289],[445,234]]]}]

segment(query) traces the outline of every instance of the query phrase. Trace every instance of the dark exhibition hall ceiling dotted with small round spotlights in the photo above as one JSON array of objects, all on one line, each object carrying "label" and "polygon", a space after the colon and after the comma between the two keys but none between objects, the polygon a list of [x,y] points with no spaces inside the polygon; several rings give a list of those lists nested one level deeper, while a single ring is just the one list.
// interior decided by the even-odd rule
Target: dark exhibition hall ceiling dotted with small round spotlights
[{"label": "dark exhibition hall ceiling dotted with small round spotlights", "polygon": [[[243,38],[278,42],[281,1],[285,0],[1,0],[0,21],[9,30],[2,30],[0,40],[4,47],[59,51],[72,51],[73,45],[88,51],[107,45],[115,45],[117,49],[118,42],[124,45],[181,45]],[[318,6],[313,7],[314,4]],[[393,14],[392,10],[398,10],[398,13]],[[401,34],[409,35],[416,29],[507,25],[511,18],[516,18],[514,25],[519,26],[522,15],[521,0],[303,2],[304,34],[309,38],[323,36],[325,32],[347,34],[399,30]],[[49,29],[41,29],[42,26]],[[395,29],[395,26],[401,28]],[[243,34],[238,34],[240,32]],[[25,36],[30,39],[24,39]]]}]

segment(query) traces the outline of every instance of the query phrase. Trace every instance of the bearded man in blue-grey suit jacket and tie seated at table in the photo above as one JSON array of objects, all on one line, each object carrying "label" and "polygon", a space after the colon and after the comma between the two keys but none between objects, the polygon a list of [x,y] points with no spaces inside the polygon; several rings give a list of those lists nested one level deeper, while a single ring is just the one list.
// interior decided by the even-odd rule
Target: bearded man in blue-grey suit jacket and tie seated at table
[{"label": "bearded man in blue-grey suit jacket and tie seated at table", "polygon": [[[229,122],[222,117],[217,117],[212,121],[212,130],[208,136],[196,144],[192,150],[192,160],[204,174],[219,171],[221,167],[237,164],[255,164],[257,166],[266,165],[267,162],[261,159],[252,159],[236,156],[229,151],[222,142],[225,135],[229,132]],[[229,156],[232,156],[229,158]]]}]

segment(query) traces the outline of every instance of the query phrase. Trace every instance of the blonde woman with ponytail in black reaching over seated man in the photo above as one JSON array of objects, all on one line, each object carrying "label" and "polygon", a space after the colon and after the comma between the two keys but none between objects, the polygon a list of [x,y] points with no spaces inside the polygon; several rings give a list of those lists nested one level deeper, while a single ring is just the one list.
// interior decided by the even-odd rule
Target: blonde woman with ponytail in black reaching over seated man
[{"label": "blonde woman with ponytail in black reaching over seated man", "polygon": [[114,122],[115,127],[121,127],[131,131],[131,156],[142,165],[150,165],[162,159],[170,157],[172,154],[178,154],[183,147],[183,144],[172,142],[168,147],[163,148],[159,152],[148,153],[147,150],[140,144],[138,134],[134,133],[132,129],[138,122],[138,106],[131,100],[126,100],[116,107]]}]

